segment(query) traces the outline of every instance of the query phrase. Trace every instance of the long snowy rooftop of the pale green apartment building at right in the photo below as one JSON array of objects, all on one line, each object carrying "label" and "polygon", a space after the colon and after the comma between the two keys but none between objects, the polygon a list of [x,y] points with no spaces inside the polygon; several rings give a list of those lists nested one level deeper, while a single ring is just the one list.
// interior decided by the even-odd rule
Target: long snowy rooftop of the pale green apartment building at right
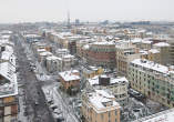
[{"label": "long snowy rooftop of the pale green apartment building at right", "polygon": [[149,61],[149,60],[142,60],[142,59],[135,59],[133,60],[131,63],[147,68],[147,69],[152,69],[154,71],[167,74],[168,73],[168,68],[165,65],[162,65],[160,63],[154,63],[153,61]]}]

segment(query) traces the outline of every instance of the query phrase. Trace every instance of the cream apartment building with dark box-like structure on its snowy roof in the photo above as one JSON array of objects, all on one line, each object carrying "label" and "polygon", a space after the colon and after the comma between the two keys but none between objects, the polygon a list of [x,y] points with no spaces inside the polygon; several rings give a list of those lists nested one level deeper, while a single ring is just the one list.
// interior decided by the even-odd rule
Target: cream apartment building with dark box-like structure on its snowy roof
[{"label": "cream apartment building with dark box-like structure on its snowy roof", "polygon": [[88,79],[86,88],[89,90],[108,90],[122,106],[127,105],[129,81],[124,77],[113,78],[105,74],[96,75],[92,79]]}]

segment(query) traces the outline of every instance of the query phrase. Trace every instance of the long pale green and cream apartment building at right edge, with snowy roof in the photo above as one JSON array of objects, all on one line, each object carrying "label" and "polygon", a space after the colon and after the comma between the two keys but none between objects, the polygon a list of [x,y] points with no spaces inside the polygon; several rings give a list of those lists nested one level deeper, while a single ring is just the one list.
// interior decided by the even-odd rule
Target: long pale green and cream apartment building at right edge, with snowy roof
[{"label": "long pale green and cream apartment building at right edge, with snowy roof", "polygon": [[131,88],[170,108],[174,106],[174,71],[149,60],[135,59],[130,63]]}]

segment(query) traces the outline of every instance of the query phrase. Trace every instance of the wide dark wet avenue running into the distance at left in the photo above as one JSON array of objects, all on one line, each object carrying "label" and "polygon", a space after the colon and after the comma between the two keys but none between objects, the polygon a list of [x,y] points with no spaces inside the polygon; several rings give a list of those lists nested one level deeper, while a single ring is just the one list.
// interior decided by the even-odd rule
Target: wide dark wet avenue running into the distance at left
[{"label": "wide dark wet avenue running into the distance at left", "polygon": [[[39,82],[35,74],[30,71],[29,61],[21,44],[23,40],[22,38],[16,37],[14,41],[17,41],[14,50],[19,63],[19,73],[22,78],[21,83],[24,85],[28,118],[31,122],[54,122],[45,104],[41,82]],[[38,105],[35,105],[35,101],[38,101]]]}]

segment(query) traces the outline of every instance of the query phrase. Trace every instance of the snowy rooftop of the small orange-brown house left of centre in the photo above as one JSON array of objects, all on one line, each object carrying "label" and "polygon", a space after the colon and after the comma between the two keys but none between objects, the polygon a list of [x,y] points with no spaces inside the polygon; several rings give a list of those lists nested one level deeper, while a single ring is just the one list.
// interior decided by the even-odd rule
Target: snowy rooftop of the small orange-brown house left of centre
[{"label": "snowy rooftop of the small orange-brown house left of centre", "polygon": [[[79,71],[78,71],[79,72]],[[80,80],[80,77],[78,74],[74,74],[76,73],[76,70],[75,71],[64,71],[64,72],[60,72],[59,75],[64,80],[64,81],[73,81],[73,80]]]}]

